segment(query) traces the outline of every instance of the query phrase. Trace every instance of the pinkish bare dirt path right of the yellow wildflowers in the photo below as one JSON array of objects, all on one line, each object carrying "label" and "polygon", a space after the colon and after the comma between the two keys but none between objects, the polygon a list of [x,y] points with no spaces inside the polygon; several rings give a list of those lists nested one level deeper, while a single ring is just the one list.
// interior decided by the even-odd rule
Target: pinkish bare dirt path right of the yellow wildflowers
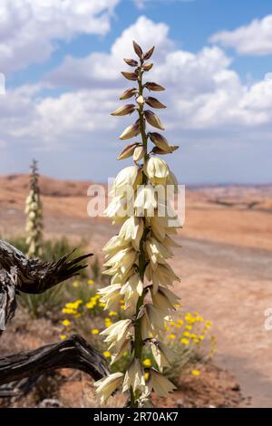
[{"label": "pinkish bare dirt path right of the yellow wildflowers", "polygon": [[272,332],[264,328],[272,307],[272,253],[180,238],[176,288],[185,305],[217,328],[218,363],[234,373],[251,406],[272,407]]}]

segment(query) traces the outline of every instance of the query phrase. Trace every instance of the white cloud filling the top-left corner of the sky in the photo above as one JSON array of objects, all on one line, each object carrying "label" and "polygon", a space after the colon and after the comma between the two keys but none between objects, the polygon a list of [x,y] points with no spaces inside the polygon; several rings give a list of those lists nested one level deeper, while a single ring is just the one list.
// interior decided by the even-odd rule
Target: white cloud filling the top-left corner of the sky
[{"label": "white cloud filling the top-left corner of the sky", "polygon": [[1,0],[1,72],[48,59],[55,41],[106,34],[120,0]]}]

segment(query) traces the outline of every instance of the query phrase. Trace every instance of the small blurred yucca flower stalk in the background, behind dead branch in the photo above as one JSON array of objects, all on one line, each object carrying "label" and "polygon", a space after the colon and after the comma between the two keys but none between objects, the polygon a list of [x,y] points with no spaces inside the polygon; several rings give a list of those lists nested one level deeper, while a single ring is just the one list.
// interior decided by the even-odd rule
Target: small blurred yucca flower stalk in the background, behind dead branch
[{"label": "small blurred yucca flower stalk in the background, behind dead branch", "polygon": [[30,191],[25,199],[24,212],[27,215],[25,231],[28,246],[27,257],[40,257],[43,254],[43,204],[39,188],[37,161],[33,160],[30,175]]}]

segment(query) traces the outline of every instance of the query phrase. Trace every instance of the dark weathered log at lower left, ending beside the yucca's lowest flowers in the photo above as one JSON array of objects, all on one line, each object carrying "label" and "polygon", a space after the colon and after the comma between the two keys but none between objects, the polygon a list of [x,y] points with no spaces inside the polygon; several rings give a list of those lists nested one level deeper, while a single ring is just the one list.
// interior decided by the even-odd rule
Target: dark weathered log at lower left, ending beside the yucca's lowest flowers
[{"label": "dark weathered log at lower left, ending beside the yucca's lowest flowers", "polygon": [[74,368],[99,380],[109,374],[106,361],[83,337],[73,334],[59,344],[0,358],[0,385],[60,368]]}]

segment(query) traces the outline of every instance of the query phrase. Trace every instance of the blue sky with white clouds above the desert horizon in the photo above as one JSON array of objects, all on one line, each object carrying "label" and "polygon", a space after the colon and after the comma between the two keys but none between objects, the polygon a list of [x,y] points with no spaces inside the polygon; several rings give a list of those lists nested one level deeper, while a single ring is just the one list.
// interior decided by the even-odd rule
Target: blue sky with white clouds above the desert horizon
[{"label": "blue sky with white clouds above the desert horizon", "polygon": [[138,36],[157,45],[151,75],[168,88],[160,116],[180,145],[170,156],[180,182],[272,182],[270,1],[1,3],[1,173],[25,172],[35,157],[47,175],[106,180],[127,164],[115,158],[131,119],[109,112]]}]

